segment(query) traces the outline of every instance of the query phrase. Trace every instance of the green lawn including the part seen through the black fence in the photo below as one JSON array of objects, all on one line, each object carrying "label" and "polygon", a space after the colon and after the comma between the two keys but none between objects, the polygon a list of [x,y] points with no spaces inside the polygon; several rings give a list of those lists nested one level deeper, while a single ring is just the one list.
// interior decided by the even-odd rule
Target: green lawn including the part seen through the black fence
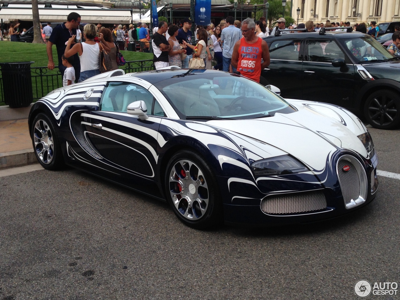
[{"label": "green lawn including the part seen through the black fence", "polygon": [[[53,48],[54,64],[58,66],[56,46],[53,45],[52,48]],[[56,76],[58,68],[52,71],[47,69],[48,58],[46,52],[46,44],[0,41],[0,51],[1,51],[0,63],[33,61],[34,63],[31,64],[31,67],[46,67],[46,69],[40,69],[42,70],[42,72],[46,74],[46,76],[42,77],[43,82],[41,82],[40,77],[32,77],[32,90],[33,90],[34,101],[36,101],[36,99],[42,97],[43,95],[46,95],[48,92],[54,90],[55,88],[62,86],[61,76]],[[121,52],[127,62],[129,61],[142,62],[143,60],[153,59],[152,53],[142,53],[133,51],[121,51]],[[126,64],[125,66],[128,65]],[[123,69],[125,66],[121,66],[120,68]],[[135,63],[131,64],[131,68],[136,68],[136,67],[140,67],[140,65],[137,65]],[[38,75],[40,74],[39,69],[36,69],[35,72]],[[47,75],[52,75],[52,76],[47,76]],[[34,75],[32,74],[32,76]],[[2,91],[3,91],[3,86],[0,86],[0,106],[5,105]]]}]

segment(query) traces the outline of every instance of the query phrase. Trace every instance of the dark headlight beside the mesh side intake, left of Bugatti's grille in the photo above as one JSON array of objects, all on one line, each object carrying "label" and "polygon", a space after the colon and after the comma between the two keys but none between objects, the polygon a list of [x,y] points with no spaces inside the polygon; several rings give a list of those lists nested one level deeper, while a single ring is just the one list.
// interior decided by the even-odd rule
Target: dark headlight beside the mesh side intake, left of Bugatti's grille
[{"label": "dark headlight beside the mesh side intake, left of Bugatti's grille", "polygon": [[258,160],[251,166],[255,175],[285,175],[308,171],[306,166],[288,155]]}]

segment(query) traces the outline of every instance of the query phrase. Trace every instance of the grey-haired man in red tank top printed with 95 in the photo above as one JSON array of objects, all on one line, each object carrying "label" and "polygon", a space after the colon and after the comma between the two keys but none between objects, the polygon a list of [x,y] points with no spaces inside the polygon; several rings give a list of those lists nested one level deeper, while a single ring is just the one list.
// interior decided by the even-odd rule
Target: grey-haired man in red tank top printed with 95
[{"label": "grey-haired man in red tank top printed with 95", "polygon": [[260,82],[261,70],[270,64],[270,51],[267,43],[254,34],[255,28],[251,18],[242,22],[243,38],[233,48],[231,63],[242,76]]}]

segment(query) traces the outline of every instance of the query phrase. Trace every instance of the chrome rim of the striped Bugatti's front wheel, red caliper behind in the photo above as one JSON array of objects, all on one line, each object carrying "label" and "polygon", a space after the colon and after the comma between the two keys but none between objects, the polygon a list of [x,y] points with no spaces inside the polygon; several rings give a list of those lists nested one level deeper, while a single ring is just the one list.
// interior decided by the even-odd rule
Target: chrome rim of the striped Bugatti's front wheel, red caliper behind
[{"label": "chrome rim of the striped Bugatti's front wheel, red caliper behind", "polygon": [[184,218],[194,221],[204,216],[209,204],[208,186],[194,162],[176,162],[170,172],[169,187],[172,202]]}]

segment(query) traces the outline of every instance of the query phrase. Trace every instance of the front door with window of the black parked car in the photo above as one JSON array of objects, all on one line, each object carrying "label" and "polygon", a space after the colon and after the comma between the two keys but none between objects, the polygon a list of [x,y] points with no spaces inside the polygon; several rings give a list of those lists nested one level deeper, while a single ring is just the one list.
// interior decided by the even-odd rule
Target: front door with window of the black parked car
[{"label": "front door with window of the black parked car", "polygon": [[[305,41],[302,99],[328,102],[351,108],[354,104],[354,65],[332,39]],[[334,67],[332,61],[341,58],[347,67]]]}]

